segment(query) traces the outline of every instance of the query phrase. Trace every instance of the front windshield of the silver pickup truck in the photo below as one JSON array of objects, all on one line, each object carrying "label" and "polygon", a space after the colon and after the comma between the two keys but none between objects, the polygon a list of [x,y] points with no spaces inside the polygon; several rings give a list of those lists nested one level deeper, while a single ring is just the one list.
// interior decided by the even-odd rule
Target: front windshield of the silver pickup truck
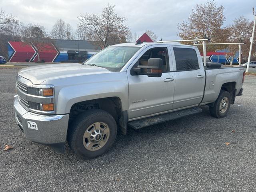
[{"label": "front windshield of the silver pickup truck", "polygon": [[139,49],[140,47],[132,46],[110,46],[86,60],[84,65],[103,67],[113,72],[120,71]]}]

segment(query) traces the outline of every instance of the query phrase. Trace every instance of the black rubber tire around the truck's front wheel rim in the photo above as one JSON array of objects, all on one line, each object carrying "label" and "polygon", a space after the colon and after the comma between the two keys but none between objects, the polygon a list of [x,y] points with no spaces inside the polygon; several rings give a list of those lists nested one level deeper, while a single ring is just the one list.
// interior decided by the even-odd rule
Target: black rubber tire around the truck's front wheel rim
[{"label": "black rubber tire around the truck's front wheel rim", "polygon": [[[108,125],[110,134],[106,144],[98,150],[87,150],[83,144],[83,136],[87,128],[96,123],[104,122]],[[106,111],[101,109],[88,110],[80,114],[68,128],[68,144],[72,152],[84,159],[96,158],[107,152],[116,139],[117,125],[114,118]]]}]

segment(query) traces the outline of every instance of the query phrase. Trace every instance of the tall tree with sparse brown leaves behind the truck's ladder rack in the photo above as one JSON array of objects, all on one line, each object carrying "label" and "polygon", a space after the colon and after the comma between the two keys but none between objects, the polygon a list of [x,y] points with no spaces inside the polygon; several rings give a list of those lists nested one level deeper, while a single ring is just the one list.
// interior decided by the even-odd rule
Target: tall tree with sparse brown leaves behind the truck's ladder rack
[{"label": "tall tree with sparse brown leaves behind the truck's ladder rack", "polygon": [[222,32],[225,21],[223,11],[224,7],[217,6],[214,1],[197,4],[192,9],[188,22],[178,25],[178,36],[182,39],[210,38],[211,42],[226,42],[222,37],[225,34]]}]

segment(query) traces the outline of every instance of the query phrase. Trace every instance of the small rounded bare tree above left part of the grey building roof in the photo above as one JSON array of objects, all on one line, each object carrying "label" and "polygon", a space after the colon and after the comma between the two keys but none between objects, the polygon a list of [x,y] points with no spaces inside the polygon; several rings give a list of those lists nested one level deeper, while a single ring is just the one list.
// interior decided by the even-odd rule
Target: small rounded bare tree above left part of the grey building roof
[{"label": "small rounded bare tree above left part of the grey building roof", "polygon": [[51,36],[54,39],[65,39],[67,34],[66,23],[62,19],[58,19],[52,26]]}]

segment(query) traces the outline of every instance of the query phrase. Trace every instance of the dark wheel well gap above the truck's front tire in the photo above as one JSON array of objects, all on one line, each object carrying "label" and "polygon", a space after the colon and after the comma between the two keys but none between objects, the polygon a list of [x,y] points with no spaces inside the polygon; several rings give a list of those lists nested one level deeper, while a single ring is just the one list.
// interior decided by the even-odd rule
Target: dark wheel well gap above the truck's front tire
[{"label": "dark wheel well gap above the truck's front tire", "polygon": [[76,116],[90,109],[102,109],[111,114],[118,122],[122,114],[122,102],[118,97],[108,97],[75,103],[70,109],[69,124]]}]

